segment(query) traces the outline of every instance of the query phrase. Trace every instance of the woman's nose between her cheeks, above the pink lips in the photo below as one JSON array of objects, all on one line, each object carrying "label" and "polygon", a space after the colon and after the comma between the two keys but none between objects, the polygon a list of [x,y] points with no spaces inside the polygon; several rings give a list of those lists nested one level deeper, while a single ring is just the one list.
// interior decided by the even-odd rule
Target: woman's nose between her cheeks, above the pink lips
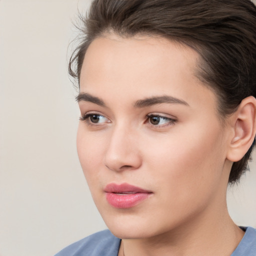
[{"label": "woman's nose between her cheeks, above the pink lips", "polygon": [[140,167],[142,158],[137,135],[132,129],[115,127],[110,134],[104,164],[114,171],[134,170]]}]

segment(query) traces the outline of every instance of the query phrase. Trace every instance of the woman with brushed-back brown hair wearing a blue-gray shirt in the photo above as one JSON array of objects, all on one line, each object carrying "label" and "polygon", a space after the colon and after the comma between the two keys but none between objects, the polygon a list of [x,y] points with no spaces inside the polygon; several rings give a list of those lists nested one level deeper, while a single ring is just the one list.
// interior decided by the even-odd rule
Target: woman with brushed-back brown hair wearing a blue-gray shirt
[{"label": "woman with brushed-back brown hair wearing a blue-gray shirt", "polygon": [[94,0],[83,21],[77,151],[110,231],[57,255],[256,255],[225,198],[256,132],[253,3]]}]

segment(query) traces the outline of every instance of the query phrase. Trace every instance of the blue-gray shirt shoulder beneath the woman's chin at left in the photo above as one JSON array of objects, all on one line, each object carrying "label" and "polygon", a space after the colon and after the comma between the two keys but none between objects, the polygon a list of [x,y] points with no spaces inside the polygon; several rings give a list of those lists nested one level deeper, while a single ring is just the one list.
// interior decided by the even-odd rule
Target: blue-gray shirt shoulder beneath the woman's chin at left
[{"label": "blue-gray shirt shoulder beneath the woman's chin at left", "polygon": [[117,256],[120,239],[108,229],[70,244],[55,256]]}]

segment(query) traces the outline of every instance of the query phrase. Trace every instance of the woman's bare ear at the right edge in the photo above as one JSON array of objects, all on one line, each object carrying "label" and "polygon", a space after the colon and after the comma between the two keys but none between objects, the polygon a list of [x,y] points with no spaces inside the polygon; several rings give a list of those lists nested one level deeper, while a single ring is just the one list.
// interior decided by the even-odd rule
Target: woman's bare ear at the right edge
[{"label": "woman's bare ear at the right edge", "polygon": [[256,99],[249,96],[241,101],[231,116],[233,133],[226,157],[228,160],[239,161],[251,146],[256,133],[255,109]]}]

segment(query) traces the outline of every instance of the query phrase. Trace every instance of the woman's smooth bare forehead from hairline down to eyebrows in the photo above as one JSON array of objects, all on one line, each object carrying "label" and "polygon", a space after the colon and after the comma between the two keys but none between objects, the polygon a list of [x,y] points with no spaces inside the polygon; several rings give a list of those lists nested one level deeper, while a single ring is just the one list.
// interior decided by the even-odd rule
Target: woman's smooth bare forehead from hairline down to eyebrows
[{"label": "woman's smooth bare forehead from hairline down to eyebrows", "polygon": [[186,102],[201,97],[203,102],[205,93],[215,95],[195,75],[199,59],[188,46],[162,37],[109,34],[89,45],[81,68],[80,91],[100,97],[111,95],[111,100],[122,103],[164,94]]}]

